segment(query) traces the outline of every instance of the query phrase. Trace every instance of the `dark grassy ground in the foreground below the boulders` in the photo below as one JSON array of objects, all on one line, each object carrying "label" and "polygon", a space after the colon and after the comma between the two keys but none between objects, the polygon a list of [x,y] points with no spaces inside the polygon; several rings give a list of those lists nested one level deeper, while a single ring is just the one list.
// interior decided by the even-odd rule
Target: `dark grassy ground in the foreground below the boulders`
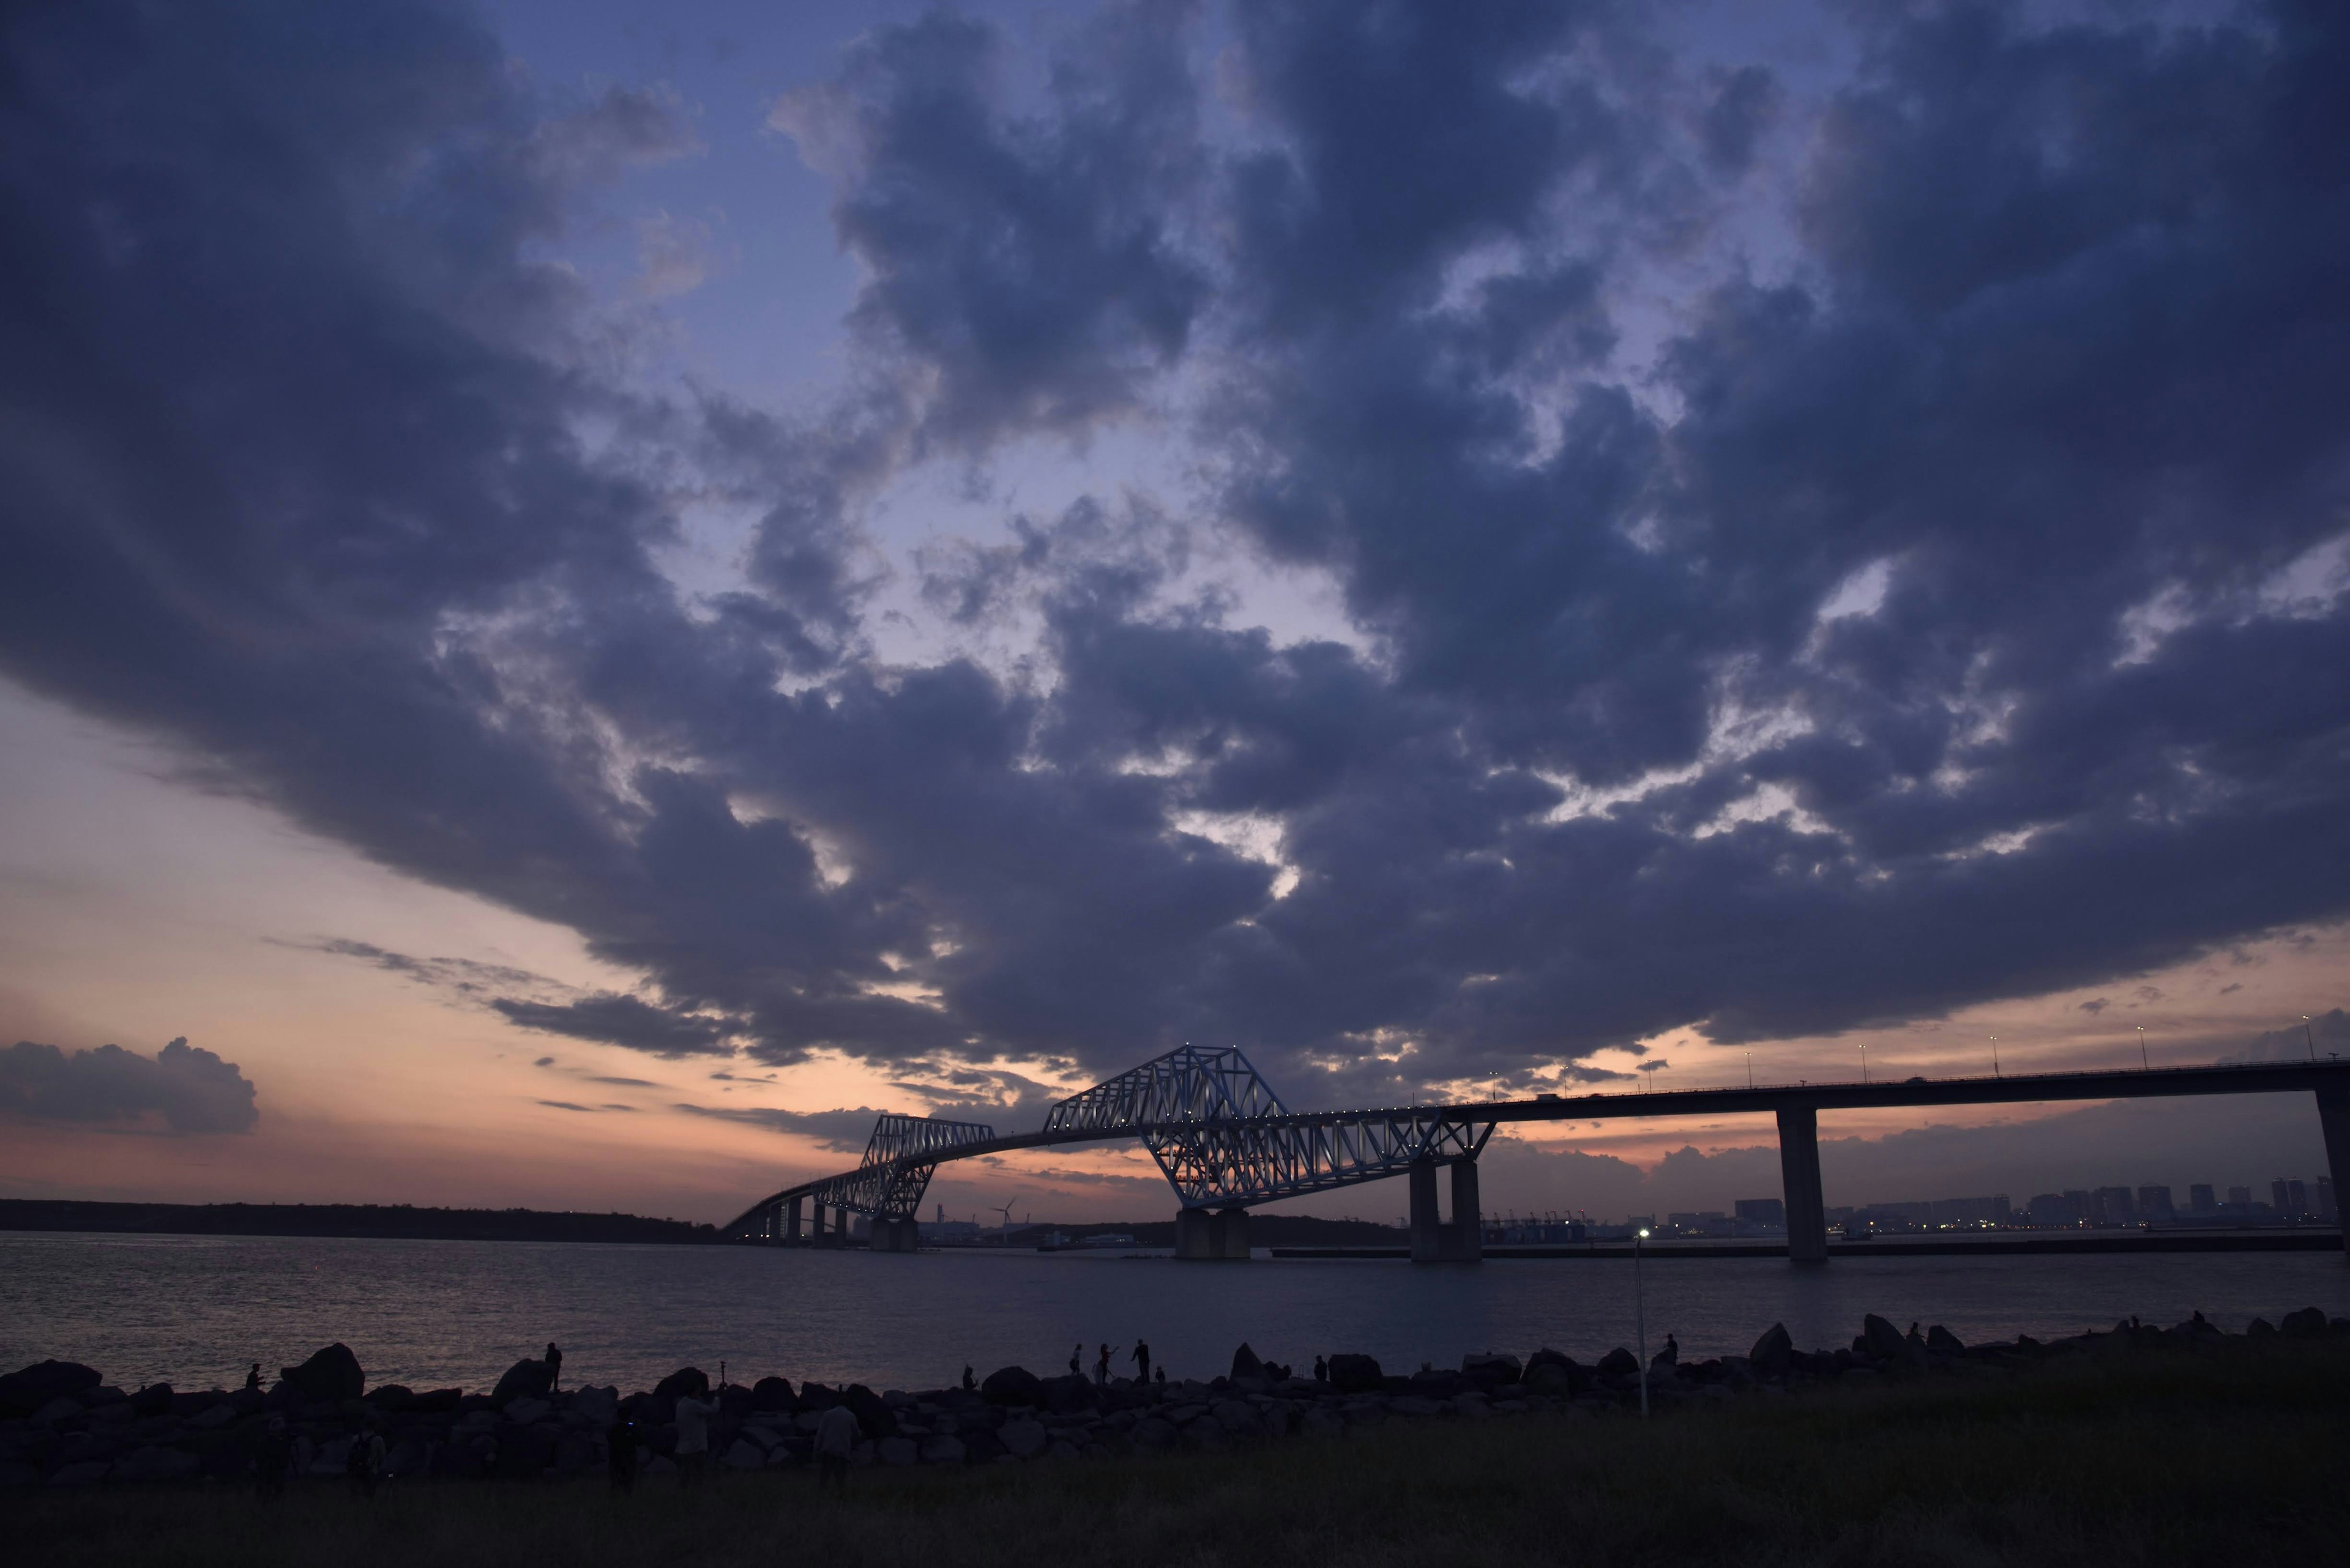
[{"label": "dark grassy ground in the foreground below the boulders", "polygon": [[646,1481],[19,1493],[26,1563],[2350,1563],[2350,1345],[1389,1422],[1238,1453]]}]

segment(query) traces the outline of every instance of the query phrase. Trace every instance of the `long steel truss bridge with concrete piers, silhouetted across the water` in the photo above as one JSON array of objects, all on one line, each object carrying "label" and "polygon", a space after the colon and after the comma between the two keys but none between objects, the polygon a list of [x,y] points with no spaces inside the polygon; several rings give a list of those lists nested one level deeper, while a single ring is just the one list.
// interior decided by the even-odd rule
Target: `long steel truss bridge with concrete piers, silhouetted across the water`
[{"label": "long steel truss bridge with concrete piers, silhouetted across the water", "polygon": [[[1828,1220],[1819,1185],[1824,1110],[2235,1093],[2315,1093],[2326,1164],[2341,1192],[2341,1173],[2350,1171],[2350,1063],[2338,1060],[1878,1084],[1762,1084],[1292,1112],[1236,1046],[1182,1046],[1069,1095],[1034,1133],[999,1135],[978,1121],[940,1117],[881,1117],[853,1171],[773,1192],[736,1215],[721,1234],[773,1244],[841,1241],[848,1215],[858,1213],[872,1218],[877,1251],[909,1253],[919,1234],[921,1194],[931,1185],[931,1173],[949,1159],[1137,1140],[1175,1190],[1177,1258],[1248,1258],[1248,1211],[1257,1204],[1403,1175],[1410,1182],[1412,1260],[1476,1262],[1480,1255],[1476,1161],[1499,1124],[1772,1112],[1779,1121],[1788,1258],[1824,1262],[1828,1258]],[[1450,1222],[1438,1213],[1438,1168],[1450,1171]],[[811,1208],[813,1229],[804,1229]],[[827,1211],[834,1218],[830,1232]],[[2350,1225],[2343,1232],[2350,1244]]]}]

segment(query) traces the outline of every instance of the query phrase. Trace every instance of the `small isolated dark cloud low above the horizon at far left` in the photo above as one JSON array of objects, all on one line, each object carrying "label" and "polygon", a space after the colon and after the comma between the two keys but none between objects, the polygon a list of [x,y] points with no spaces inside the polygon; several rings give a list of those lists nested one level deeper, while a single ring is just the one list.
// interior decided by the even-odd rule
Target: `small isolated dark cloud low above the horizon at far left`
[{"label": "small isolated dark cloud low above the horizon at far left", "polygon": [[59,1051],[19,1039],[0,1051],[0,1112],[35,1121],[141,1121],[174,1133],[249,1133],[261,1112],[235,1063],[174,1039],[155,1056],[122,1046]]}]

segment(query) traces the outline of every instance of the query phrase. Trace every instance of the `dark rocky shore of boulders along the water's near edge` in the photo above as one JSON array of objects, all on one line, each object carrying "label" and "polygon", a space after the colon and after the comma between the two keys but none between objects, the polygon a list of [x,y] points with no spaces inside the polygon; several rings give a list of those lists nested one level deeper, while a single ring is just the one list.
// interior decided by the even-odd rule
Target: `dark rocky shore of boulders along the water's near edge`
[{"label": "dark rocky shore of boulders along the water's near edge", "polygon": [[[1706,1408],[1734,1399],[1788,1396],[1807,1387],[1889,1378],[2005,1378],[2099,1352],[2193,1354],[2230,1338],[2336,1338],[2350,1319],[2317,1307],[2270,1326],[2254,1319],[2228,1335],[2195,1316],[2171,1328],[2115,1324],[2073,1338],[1965,1345],[1941,1326],[1904,1331],[1868,1316],[1849,1347],[1795,1349],[1774,1324],[1744,1356],[1678,1361],[1661,1352],[1647,1371],[1652,1410]],[[94,1368],[40,1361],[0,1378],[0,1486],[96,1486],[270,1479],[343,1479],[355,1443],[383,1439],[383,1476],[540,1479],[599,1469],[623,1418],[646,1450],[644,1472],[677,1465],[682,1396],[712,1399],[714,1469],[794,1469],[811,1462],[825,1410],[848,1406],[862,1441],[855,1465],[1010,1465],[1043,1458],[1107,1458],[1170,1448],[1227,1448],[1288,1436],[1340,1436],[1382,1422],[1483,1420],[1492,1415],[1598,1418],[1640,1406],[1640,1363],[1612,1349],[1582,1363],[1556,1349],[1480,1352],[1459,1368],[1396,1375],[1370,1356],[1328,1356],[1328,1378],[1297,1378],[1246,1345],[1213,1382],[1142,1385],[1112,1378],[1036,1378],[1006,1366],[975,1389],[874,1392],[865,1385],[792,1385],[761,1378],[710,1389],[698,1368],[658,1387],[555,1392],[552,1371],[517,1361],[494,1389],[369,1389],[357,1356],[329,1345],[282,1371],[270,1389],[179,1392],[108,1387]],[[256,1474],[258,1472],[258,1474]]]}]

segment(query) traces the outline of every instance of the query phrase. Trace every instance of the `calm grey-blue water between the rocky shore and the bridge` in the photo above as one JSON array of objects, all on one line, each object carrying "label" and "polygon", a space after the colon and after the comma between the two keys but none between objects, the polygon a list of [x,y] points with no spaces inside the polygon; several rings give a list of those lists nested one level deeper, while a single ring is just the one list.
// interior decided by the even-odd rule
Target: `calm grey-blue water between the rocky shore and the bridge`
[{"label": "calm grey-blue water between the rocky shore and the bridge", "polygon": [[[2341,1253],[2136,1258],[1774,1258],[1645,1265],[1652,1342],[1744,1352],[1772,1321],[1802,1349],[1864,1312],[1965,1340],[2110,1328],[2193,1309],[2225,1328],[2294,1307],[2350,1316]],[[0,1368],[85,1361],[108,1382],[233,1387],[329,1340],[369,1382],[482,1387],[550,1338],[566,1382],[651,1387],[677,1366],[938,1387],[964,1363],[1058,1373],[1069,1345],[1152,1342],[1168,1375],[1210,1378],[1241,1340],[1276,1361],[1363,1349],[1389,1371],[1469,1349],[1556,1345],[1593,1359],[1633,1338],[1617,1260],[1175,1262],[1072,1253],[776,1253],[733,1246],[0,1234]]]}]

